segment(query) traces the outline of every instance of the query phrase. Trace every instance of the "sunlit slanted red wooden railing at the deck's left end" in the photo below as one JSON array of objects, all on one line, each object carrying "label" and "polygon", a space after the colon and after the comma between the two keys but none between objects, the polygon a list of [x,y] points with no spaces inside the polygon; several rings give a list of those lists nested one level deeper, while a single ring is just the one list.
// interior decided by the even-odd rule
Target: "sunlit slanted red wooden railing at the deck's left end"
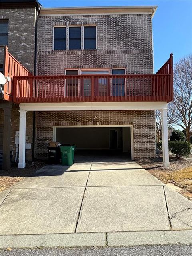
[{"label": "sunlit slanted red wooden railing at the deck's left end", "polygon": [[32,74],[16,60],[9,52],[7,46],[4,47],[4,76],[9,76],[11,81],[4,85],[4,100],[12,101],[14,76],[32,76]]}]

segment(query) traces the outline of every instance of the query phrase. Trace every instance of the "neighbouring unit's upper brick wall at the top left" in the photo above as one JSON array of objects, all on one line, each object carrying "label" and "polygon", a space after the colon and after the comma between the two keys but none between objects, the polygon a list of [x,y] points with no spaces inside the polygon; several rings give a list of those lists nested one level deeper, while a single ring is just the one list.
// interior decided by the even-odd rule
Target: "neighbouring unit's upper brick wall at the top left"
[{"label": "neighbouring unit's upper brick wall at the top left", "polygon": [[[8,51],[33,73],[35,8],[1,8],[0,18],[8,20]],[[0,64],[3,64],[2,58]]]}]

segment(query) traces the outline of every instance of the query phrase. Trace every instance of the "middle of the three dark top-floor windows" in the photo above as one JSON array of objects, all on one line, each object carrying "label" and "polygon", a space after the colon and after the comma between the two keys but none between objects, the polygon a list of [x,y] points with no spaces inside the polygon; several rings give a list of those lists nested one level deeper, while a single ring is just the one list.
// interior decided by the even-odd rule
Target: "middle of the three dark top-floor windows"
[{"label": "middle of the three dark top-floor windows", "polygon": [[81,27],[69,27],[69,49],[81,49]]}]

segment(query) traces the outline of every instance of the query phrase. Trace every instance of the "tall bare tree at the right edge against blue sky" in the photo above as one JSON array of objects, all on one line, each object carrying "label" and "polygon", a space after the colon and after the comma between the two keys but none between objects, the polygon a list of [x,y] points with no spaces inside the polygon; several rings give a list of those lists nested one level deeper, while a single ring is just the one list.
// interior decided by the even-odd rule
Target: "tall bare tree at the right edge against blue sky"
[{"label": "tall bare tree at the right edge against blue sky", "polygon": [[174,65],[174,102],[176,124],[192,136],[192,54]]}]

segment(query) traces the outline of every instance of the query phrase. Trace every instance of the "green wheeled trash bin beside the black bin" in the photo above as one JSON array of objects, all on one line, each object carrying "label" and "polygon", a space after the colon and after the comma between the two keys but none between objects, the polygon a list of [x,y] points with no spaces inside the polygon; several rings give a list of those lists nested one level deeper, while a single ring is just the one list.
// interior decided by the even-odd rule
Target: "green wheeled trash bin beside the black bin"
[{"label": "green wheeled trash bin beside the black bin", "polygon": [[62,144],[60,146],[60,150],[61,150],[61,164],[62,165],[74,164],[75,145]]}]

